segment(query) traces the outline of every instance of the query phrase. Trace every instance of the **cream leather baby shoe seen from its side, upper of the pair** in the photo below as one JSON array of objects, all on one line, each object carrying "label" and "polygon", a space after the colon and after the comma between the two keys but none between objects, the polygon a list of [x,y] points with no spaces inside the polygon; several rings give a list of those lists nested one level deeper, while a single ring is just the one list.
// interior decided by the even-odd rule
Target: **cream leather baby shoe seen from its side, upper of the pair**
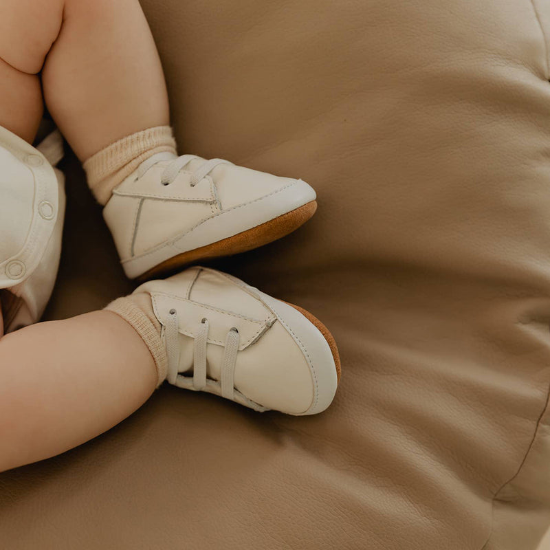
[{"label": "cream leather baby shoe seen from its side, upper of the pair", "polygon": [[300,179],[158,153],[113,190],[103,216],[126,275],[146,279],[280,239],[316,208]]}]

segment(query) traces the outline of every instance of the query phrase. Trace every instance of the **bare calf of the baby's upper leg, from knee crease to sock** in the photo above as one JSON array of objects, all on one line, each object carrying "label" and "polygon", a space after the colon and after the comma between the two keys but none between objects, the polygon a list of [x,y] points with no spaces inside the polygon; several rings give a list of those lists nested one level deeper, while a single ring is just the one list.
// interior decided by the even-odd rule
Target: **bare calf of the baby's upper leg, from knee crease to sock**
[{"label": "bare calf of the baby's upper leg, from knee crease to sock", "polygon": [[43,89],[76,155],[85,160],[121,137],[168,124],[164,74],[140,3],[57,3],[63,19],[47,53]]}]

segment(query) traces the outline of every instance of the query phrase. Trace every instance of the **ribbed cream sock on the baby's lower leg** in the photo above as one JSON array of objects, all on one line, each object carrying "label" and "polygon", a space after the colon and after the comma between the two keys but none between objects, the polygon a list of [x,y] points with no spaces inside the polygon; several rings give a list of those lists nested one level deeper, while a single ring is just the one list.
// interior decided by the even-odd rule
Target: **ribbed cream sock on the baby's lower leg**
[{"label": "ribbed cream sock on the baby's lower leg", "polygon": [[151,296],[146,292],[130,294],[124,298],[117,298],[107,307],[108,311],[122,317],[133,329],[141,336],[145,342],[157,367],[158,384],[157,387],[166,380],[168,372],[168,356],[166,347],[160,338],[161,325],[155,317]]}]

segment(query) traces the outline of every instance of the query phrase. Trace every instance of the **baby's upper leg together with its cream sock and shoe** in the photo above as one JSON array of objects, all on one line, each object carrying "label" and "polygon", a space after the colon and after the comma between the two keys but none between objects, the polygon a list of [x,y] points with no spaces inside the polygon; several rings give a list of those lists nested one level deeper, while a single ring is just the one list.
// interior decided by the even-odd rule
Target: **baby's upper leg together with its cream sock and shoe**
[{"label": "baby's upper leg together with its cream sock and shoe", "polygon": [[[29,74],[42,67],[46,105],[106,206],[129,277],[252,250],[293,232],[316,211],[316,193],[301,179],[177,157],[162,67],[138,0],[0,0],[0,6],[10,12],[9,24],[0,23],[0,57]],[[124,199],[110,203],[125,180],[140,186],[124,188]],[[182,240],[174,245],[177,235]]]}]

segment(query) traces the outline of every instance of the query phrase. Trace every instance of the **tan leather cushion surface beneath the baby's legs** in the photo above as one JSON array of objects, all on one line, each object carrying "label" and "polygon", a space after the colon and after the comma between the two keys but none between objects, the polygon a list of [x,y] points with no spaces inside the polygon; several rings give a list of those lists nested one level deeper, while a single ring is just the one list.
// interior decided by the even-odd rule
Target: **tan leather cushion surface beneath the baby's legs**
[{"label": "tan leather cushion surface beneath the baby's legs", "polygon": [[[163,387],[107,434],[0,476],[3,544],[536,548],[550,518],[548,3],[143,5],[180,152],[318,191],[304,228],[216,267],[325,322],[340,391],[292,418]],[[69,164],[49,318],[131,289]]]}]

